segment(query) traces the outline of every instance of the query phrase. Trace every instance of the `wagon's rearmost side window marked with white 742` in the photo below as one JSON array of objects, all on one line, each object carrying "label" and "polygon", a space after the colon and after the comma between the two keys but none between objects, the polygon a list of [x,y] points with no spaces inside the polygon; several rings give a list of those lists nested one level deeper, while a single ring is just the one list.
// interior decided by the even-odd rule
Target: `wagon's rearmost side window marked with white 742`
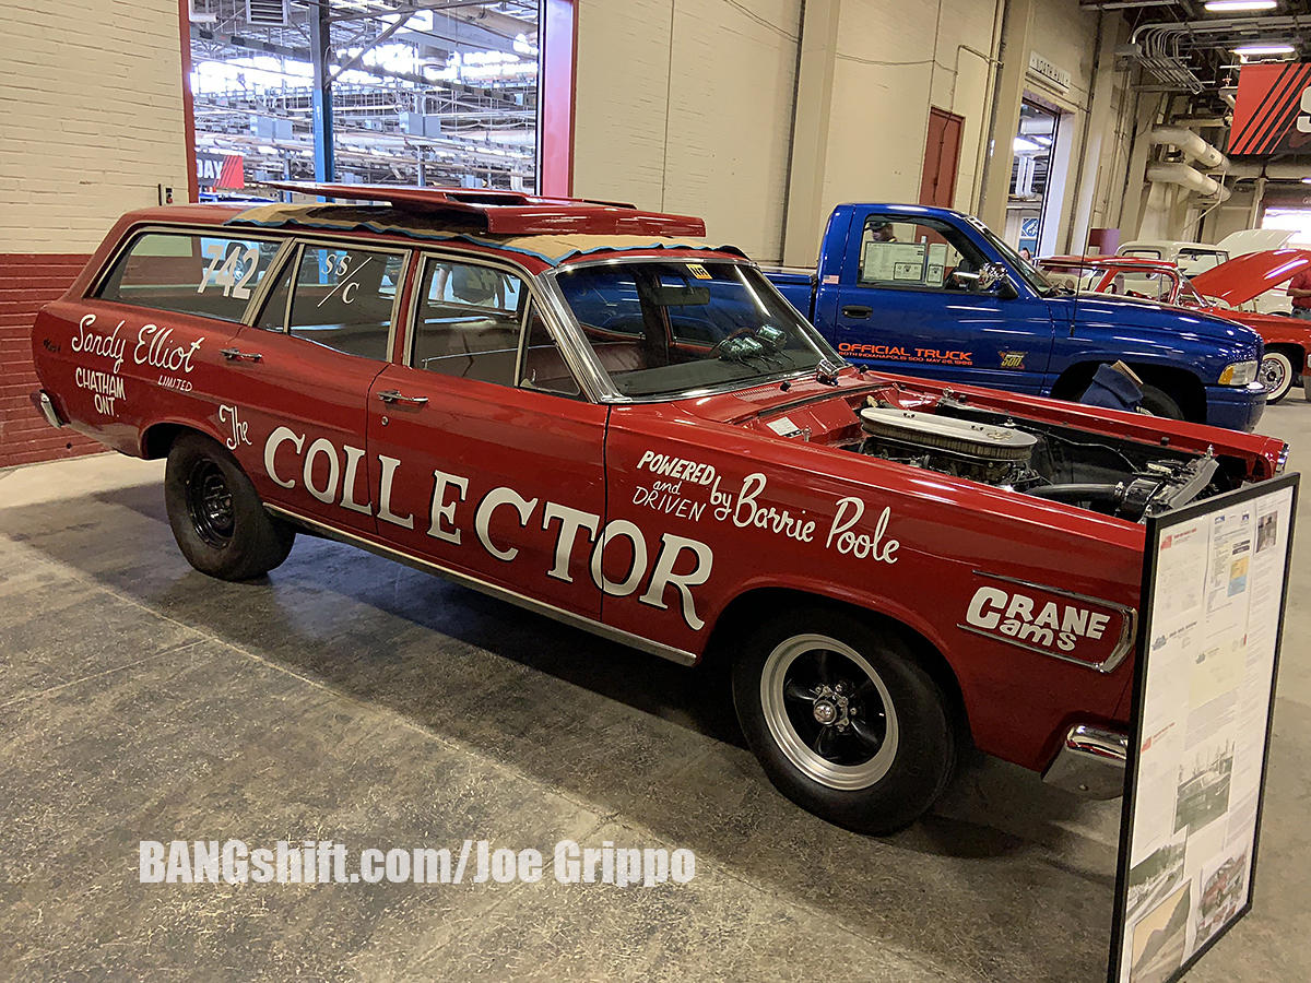
[{"label": "wagon's rearmost side window marked with white 742", "polygon": [[143,232],[96,296],[153,311],[240,321],[281,241],[201,232]]}]

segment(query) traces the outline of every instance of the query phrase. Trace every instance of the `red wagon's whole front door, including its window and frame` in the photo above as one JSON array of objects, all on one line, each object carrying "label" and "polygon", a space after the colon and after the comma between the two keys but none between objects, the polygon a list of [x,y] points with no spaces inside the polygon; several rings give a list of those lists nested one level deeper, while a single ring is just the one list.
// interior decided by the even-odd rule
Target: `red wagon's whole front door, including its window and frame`
[{"label": "red wagon's whole front door, including its window and frame", "polygon": [[544,374],[520,381],[524,325],[530,343],[544,332],[534,311],[510,267],[425,262],[400,357],[409,364],[387,366],[368,396],[378,533],[599,620],[590,561],[606,518],[607,408],[549,391]]}]

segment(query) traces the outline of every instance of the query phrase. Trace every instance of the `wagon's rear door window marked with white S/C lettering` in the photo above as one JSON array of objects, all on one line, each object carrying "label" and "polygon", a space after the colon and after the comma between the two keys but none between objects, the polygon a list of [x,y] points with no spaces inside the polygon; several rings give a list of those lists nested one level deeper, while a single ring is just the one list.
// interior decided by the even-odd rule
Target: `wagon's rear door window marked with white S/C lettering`
[{"label": "wagon's rear door window marked with white S/C lettering", "polygon": [[305,245],[270,292],[258,326],[387,362],[404,267],[404,253]]}]

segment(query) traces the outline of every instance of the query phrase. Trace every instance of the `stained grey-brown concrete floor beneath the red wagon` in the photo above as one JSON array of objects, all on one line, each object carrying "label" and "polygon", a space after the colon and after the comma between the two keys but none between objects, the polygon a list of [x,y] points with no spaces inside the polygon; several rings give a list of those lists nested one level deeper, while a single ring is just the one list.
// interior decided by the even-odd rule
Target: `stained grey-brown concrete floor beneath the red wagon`
[{"label": "stained grey-brown concrete floor beneath the red wagon", "polygon": [[[1311,469],[1311,406],[1262,430]],[[772,790],[721,679],[309,537],[267,581],[208,579],[163,471],[0,472],[0,979],[1105,978],[1118,802],[982,760],[898,836],[836,830]],[[1255,911],[1196,983],[1311,967],[1308,568]],[[139,840],[227,838],[570,838],[697,866],[649,890],[138,882]]]}]

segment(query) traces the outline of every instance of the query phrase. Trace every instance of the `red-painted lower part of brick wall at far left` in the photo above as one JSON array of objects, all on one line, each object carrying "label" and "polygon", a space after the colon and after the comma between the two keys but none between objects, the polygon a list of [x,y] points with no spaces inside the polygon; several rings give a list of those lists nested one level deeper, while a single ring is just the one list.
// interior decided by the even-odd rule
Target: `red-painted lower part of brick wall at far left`
[{"label": "red-painted lower part of brick wall at far left", "polygon": [[0,253],[0,468],[104,448],[72,430],[55,430],[29,398],[37,389],[31,324],[68,290],[89,256]]}]

